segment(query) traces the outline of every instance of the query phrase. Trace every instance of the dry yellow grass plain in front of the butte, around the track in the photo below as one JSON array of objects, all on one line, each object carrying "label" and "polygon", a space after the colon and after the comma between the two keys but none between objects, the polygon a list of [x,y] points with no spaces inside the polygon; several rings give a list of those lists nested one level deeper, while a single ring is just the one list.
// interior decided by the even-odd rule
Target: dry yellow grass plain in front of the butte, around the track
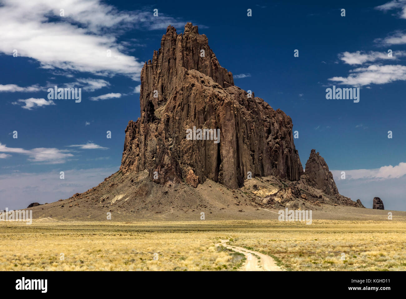
[{"label": "dry yellow grass plain in front of the butte, around the track", "polygon": [[405,271],[405,231],[404,221],[0,222],[0,271],[237,269],[242,256],[220,239],[285,270]]}]

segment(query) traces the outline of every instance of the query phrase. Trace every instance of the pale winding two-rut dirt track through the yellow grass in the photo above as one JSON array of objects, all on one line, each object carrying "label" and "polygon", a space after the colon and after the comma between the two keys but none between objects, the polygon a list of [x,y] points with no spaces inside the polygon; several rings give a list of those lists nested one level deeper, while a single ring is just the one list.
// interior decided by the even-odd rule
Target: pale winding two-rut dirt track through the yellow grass
[{"label": "pale winding two-rut dirt track through the yellow grass", "polygon": [[281,268],[276,266],[274,259],[269,255],[248,250],[243,247],[227,245],[226,242],[228,241],[229,240],[221,240],[221,242],[217,243],[216,246],[222,245],[228,249],[232,249],[244,254],[246,257],[246,262],[242,266],[241,271],[283,271]]}]

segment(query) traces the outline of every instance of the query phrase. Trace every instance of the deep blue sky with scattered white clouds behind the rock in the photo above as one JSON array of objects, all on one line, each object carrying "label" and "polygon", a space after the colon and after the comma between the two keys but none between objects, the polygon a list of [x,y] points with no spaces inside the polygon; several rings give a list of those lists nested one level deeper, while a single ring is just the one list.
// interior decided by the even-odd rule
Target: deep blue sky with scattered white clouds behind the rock
[{"label": "deep blue sky with scattered white clouds behind the rock", "polygon": [[[406,210],[406,1],[0,0],[0,206],[67,198],[117,171],[143,63],[186,22],[235,85],[292,118],[303,166],[315,148],[341,194]],[[48,100],[54,85],[82,88],[82,101]],[[333,85],[359,87],[359,103],[327,100]]]}]

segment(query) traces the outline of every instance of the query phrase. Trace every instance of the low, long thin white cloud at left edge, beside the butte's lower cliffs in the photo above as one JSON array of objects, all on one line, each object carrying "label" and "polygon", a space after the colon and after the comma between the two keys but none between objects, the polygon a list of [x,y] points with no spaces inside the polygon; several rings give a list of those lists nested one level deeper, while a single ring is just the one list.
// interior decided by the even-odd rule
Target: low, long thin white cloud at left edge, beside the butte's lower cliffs
[{"label": "low, long thin white cloud at left edge, beside the butte's lower cliffs", "polygon": [[58,148],[33,148],[25,150],[24,148],[11,148],[0,143],[0,153],[17,153],[28,155],[31,162],[44,162],[44,164],[60,164],[65,163],[65,159],[73,157],[71,153]]}]

